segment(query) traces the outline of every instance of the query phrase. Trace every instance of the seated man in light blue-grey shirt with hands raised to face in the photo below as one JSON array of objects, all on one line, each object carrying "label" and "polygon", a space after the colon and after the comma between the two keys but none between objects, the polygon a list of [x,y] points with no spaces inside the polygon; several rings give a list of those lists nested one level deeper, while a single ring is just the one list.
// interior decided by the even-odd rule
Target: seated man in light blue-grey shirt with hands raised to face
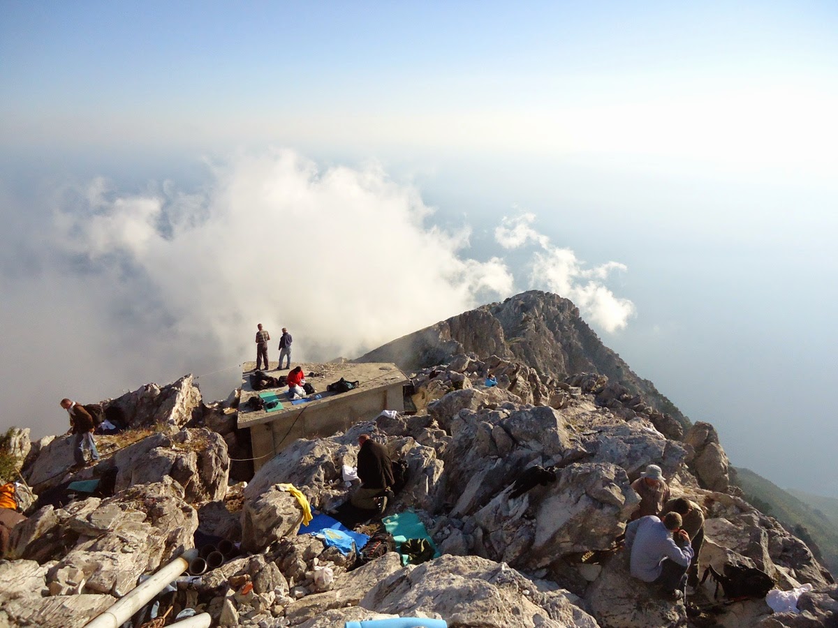
[{"label": "seated man in light blue-grey shirt with hands raised to face", "polygon": [[654,584],[671,600],[684,597],[686,570],[693,551],[690,537],[681,530],[681,517],[669,512],[661,521],[640,517],[626,527],[626,549],[634,578]]}]

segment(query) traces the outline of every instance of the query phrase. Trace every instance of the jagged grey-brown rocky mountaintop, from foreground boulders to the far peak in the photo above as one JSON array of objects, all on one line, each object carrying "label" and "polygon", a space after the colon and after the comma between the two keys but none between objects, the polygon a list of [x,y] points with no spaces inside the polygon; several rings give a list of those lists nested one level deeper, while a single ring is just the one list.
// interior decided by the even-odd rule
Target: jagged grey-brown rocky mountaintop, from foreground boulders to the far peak
[{"label": "jagged grey-brown rocky mountaintop, from foreground boulders to the far peak", "polygon": [[[207,404],[189,376],[101,401],[119,425],[96,436],[93,466],[73,467],[70,436],[32,443],[11,430],[6,481],[25,481],[26,518],[0,562],[0,626],[83,626],[184,552],[127,625],[202,613],[260,628],[398,617],[452,628],[838,625],[830,573],[731,486],[712,425],[691,423],[633,373],[571,301],[526,292],[360,361],[405,371],[406,409],[296,440],[256,474],[239,392]],[[485,385],[489,373],[497,385]],[[347,507],[362,434],[406,470],[365,522]],[[705,513],[700,572],[719,578],[685,599],[632,578],[620,543],[640,502],[632,482],[649,465],[671,497]],[[309,508],[348,533],[305,533]],[[426,543],[387,538],[399,521]],[[352,534],[365,536],[340,541]],[[773,589],[737,588],[735,569]]]}]

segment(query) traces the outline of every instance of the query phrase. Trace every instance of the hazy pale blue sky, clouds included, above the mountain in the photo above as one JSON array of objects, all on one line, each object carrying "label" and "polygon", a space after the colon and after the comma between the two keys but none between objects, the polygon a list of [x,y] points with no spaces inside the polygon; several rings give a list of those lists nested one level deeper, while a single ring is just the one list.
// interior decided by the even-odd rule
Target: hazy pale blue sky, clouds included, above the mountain
[{"label": "hazy pale blue sky, clouds included, above the mountain", "polygon": [[[333,357],[564,286],[734,463],[838,496],[836,22],[790,2],[0,3],[4,414],[41,353],[57,399],[101,399],[249,358],[255,318]],[[340,227],[297,237],[315,220]],[[511,247],[502,224],[531,233]],[[352,260],[377,290],[290,306],[283,250],[313,284]],[[266,258],[277,296],[235,296]],[[377,300],[400,302],[385,320]],[[16,421],[60,431],[53,405]]]}]

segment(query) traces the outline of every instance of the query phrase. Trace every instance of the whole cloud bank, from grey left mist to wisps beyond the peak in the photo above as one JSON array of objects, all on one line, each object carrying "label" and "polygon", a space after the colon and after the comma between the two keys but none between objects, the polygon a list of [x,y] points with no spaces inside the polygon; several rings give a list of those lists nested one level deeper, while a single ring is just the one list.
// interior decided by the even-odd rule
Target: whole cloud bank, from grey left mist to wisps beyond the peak
[{"label": "whole cloud bank, from grey left mist to wisps beyond the peak", "polygon": [[[22,356],[18,366],[38,368],[36,356],[57,352],[66,368],[69,355],[80,356],[54,391],[39,384],[37,414],[59,420],[52,397],[116,396],[231,368],[252,359],[256,322],[277,336],[291,329],[295,358],[323,360],[360,355],[526,288],[571,298],[605,332],[634,314],[606,286],[623,265],[587,268],[539,234],[533,214],[504,218],[494,232],[498,255],[476,260],[467,255],[468,225],[433,224],[420,191],[378,165],[320,167],[274,150],[208,167],[209,184],[193,193],[172,182],[127,193],[106,178],[54,193],[31,245],[49,251],[32,254],[49,263],[2,278],[11,300],[3,322],[20,339],[4,349]],[[515,249],[531,252],[524,268],[504,260]],[[31,337],[32,322],[59,340]],[[18,373],[5,373],[7,381],[32,397],[39,389]],[[14,399],[3,404],[14,416]]]}]

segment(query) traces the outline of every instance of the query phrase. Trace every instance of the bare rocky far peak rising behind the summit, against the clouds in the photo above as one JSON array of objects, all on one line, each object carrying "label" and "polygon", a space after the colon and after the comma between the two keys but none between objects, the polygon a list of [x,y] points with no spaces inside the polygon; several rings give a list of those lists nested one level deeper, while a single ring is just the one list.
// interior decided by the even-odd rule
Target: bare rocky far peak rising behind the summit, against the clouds
[{"label": "bare rocky far peak rising behind the summit, against the clouds", "polygon": [[572,301],[549,292],[528,291],[437,322],[388,342],[359,362],[393,362],[405,371],[448,363],[458,354],[497,356],[526,364],[547,384],[573,373],[598,373],[618,383],[682,427],[690,421],[675,404],[640,378],[606,347],[579,316]]}]

